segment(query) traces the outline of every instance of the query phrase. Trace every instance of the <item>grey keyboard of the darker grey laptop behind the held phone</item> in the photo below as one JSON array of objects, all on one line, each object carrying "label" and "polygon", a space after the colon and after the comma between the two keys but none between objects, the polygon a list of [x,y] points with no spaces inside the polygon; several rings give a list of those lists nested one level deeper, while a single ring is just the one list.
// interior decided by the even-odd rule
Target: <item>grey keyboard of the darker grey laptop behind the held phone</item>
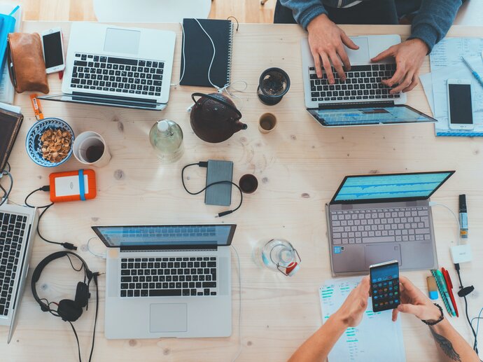
[{"label": "grey keyboard of the darker grey laptop behind the held phone", "polygon": [[331,211],[332,244],[430,240],[428,207]]}]

